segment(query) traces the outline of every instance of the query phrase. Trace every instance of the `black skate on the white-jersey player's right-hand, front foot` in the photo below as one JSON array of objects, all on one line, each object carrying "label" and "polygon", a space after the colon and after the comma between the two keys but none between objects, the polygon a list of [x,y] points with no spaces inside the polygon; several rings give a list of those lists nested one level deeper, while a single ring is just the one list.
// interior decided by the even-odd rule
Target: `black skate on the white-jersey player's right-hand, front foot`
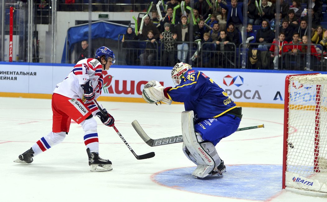
[{"label": "black skate on the white-jersey player's right-hand, front foot", "polygon": [[112,170],[111,161],[100,158],[96,152],[90,152],[90,148],[87,148],[86,152],[89,156],[90,171],[103,172]]}]

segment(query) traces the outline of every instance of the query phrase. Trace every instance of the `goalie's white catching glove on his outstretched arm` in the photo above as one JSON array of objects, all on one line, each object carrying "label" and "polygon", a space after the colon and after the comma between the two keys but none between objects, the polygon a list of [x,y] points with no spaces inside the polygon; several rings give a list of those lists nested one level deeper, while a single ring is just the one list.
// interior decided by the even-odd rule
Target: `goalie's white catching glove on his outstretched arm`
[{"label": "goalie's white catching glove on his outstretched arm", "polygon": [[155,104],[157,102],[163,101],[164,103],[171,104],[171,100],[166,98],[163,94],[163,87],[158,81],[152,80],[144,85],[142,98],[150,103]]}]

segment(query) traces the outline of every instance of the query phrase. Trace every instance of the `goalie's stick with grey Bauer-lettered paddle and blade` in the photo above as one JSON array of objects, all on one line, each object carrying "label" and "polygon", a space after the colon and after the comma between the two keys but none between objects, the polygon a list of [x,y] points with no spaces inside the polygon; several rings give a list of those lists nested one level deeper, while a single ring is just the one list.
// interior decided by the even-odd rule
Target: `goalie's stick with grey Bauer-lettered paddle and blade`
[{"label": "goalie's stick with grey Bauer-lettered paddle and blade", "polygon": [[[137,122],[137,120],[134,120],[132,122],[132,126],[135,129],[135,131],[137,132],[137,134],[139,134],[140,137],[143,139],[143,141],[150,147],[183,142],[182,135],[176,135],[176,136],[172,136],[172,137],[163,137],[163,138],[159,138],[159,139],[151,139],[144,132],[144,130],[142,129],[140,124]],[[264,126],[264,124],[258,125],[258,126],[249,126],[249,127],[245,127],[245,128],[238,128],[236,131],[245,131],[245,130],[250,130],[250,129],[255,129],[255,128],[265,128],[265,126]]]}]

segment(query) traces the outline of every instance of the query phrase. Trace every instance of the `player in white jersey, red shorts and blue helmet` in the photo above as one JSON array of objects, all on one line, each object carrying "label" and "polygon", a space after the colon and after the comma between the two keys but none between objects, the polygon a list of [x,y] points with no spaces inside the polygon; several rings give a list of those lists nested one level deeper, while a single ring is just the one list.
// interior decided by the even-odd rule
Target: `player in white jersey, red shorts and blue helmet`
[{"label": "player in white jersey, red shorts and blue helmet", "polygon": [[[104,116],[93,101],[100,96],[103,76],[102,70],[109,70],[115,63],[115,54],[102,46],[94,58],[82,59],[74,66],[68,76],[56,85],[52,94],[52,131],[40,138],[30,149],[18,156],[16,163],[32,163],[36,155],[59,144],[69,132],[73,119],[84,131],[84,143],[89,157],[91,171],[111,171],[112,163],[99,157],[97,123],[94,116],[103,124],[112,127],[114,118],[106,112]],[[102,105],[99,104],[101,107]]]}]

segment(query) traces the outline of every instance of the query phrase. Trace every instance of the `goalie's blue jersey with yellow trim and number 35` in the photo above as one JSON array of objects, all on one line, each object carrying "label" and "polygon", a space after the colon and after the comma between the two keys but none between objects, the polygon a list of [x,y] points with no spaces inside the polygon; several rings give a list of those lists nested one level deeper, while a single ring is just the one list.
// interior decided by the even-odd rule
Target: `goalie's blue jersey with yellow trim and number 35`
[{"label": "goalie's blue jersey with yellow trim and number 35", "polygon": [[185,111],[193,110],[196,123],[236,108],[224,89],[204,73],[192,69],[185,72],[180,85],[167,91],[167,96],[172,101],[184,102]]}]

